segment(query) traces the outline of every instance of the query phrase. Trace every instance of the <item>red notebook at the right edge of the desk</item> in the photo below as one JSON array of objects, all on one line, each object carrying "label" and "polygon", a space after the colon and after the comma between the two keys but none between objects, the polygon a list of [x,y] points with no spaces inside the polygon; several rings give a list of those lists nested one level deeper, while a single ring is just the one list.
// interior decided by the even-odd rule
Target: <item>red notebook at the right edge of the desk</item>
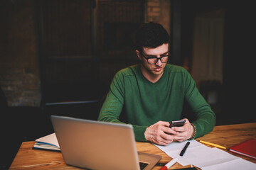
[{"label": "red notebook at the right edge of the desk", "polygon": [[252,138],[250,140],[241,142],[238,145],[234,145],[233,147],[230,147],[229,150],[230,152],[234,152],[236,154],[242,154],[245,157],[256,159],[256,139]]}]

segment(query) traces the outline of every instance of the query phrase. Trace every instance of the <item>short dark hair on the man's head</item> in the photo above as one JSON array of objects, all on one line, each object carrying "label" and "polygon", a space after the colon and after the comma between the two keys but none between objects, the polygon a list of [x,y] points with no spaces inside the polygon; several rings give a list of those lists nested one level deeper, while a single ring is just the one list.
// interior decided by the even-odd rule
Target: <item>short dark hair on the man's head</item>
[{"label": "short dark hair on the man's head", "polygon": [[159,23],[144,23],[134,34],[135,50],[142,51],[142,47],[159,47],[169,43],[169,34]]}]

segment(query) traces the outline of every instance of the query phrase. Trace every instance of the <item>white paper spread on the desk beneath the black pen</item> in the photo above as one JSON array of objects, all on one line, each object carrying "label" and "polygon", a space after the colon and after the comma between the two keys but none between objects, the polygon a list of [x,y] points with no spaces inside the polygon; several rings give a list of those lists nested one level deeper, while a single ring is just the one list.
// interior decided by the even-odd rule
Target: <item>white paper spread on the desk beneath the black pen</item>
[{"label": "white paper spread on the desk beneath the black pen", "polygon": [[[186,142],[172,142],[167,146],[155,145],[159,147],[163,152],[169,155],[169,157],[178,157],[178,163],[186,166],[188,164],[193,164],[200,167],[203,170],[211,169],[239,169],[237,167],[242,167],[242,169],[256,169],[256,164],[248,162],[240,157],[235,157],[228,152],[225,152],[218,148],[206,147],[206,145],[197,142],[196,140],[191,140],[190,145],[186,149],[183,157],[179,156],[181,150],[186,145]],[[235,168],[234,168],[235,167]]]}]

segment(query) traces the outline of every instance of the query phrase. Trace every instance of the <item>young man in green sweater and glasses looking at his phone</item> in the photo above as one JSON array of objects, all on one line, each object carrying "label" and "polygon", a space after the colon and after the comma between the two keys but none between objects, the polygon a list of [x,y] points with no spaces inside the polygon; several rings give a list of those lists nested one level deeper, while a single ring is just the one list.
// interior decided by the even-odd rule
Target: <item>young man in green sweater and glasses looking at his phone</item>
[{"label": "young man in green sweater and glasses looking at his phone", "polygon": [[[141,64],[122,69],[114,76],[98,120],[129,123],[137,141],[168,145],[191,140],[213,130],[215,114],[183,67],[167,64],[169,35],[158,23],[145,23],[135,34]],[[182,127],[169,128],[180,120],[184,99],[195,113]],[[122,111],[123,110],[123,111]]]}]

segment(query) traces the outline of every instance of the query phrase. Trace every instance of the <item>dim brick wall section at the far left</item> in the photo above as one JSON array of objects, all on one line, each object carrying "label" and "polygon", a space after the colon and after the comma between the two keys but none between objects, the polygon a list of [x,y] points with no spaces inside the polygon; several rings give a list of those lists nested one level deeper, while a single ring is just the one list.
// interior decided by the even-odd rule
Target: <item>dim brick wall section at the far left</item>
[{"label": "dim brick wall section at the far left", "polygon": [[8,106],[39,106],[37,38],[32,0],[0,3],[0,86]]}]

